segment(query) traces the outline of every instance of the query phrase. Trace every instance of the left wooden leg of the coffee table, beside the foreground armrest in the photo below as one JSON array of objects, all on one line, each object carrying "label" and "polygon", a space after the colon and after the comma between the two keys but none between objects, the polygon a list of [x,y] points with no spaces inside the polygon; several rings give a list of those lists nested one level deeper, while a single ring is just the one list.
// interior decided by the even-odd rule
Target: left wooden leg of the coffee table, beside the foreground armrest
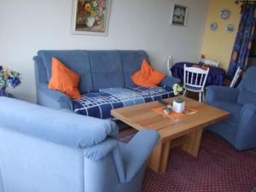
[{"label": "left wooden leg of the coffee table, beside the foreground armrest", "polygon": [[170,142],[158,143],[150,156],[148,166],[154,172],[166,172],[170,152]]}]

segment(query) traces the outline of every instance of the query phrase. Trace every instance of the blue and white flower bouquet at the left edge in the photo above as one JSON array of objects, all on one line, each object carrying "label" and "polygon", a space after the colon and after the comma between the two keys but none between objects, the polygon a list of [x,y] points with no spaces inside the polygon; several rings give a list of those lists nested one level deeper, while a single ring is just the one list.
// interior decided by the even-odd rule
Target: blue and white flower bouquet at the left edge
[{"label": "blue and white flower bouquet at the left edge", "polygon": [[0,96],[5,96],[6,88],[15,88],[20,83],[20,73],[0,66]]}]

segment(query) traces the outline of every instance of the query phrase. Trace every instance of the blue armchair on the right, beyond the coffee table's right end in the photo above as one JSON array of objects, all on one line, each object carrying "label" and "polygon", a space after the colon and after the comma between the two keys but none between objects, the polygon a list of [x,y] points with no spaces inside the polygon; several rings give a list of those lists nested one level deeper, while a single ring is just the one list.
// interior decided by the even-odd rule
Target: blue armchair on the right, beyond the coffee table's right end
[{"label": "blue armchair on the right, beyond the coffee table's right end", "polygon": [[208,127],[238,150],[256,147],[256,67],[250,67],[237,88],[209,86],[206,102],[231,113]]}]

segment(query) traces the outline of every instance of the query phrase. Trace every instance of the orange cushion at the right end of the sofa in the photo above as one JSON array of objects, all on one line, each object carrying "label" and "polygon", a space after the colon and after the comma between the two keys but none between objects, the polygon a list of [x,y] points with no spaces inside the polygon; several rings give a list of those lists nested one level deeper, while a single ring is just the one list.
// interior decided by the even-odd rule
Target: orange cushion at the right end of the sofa
[{"label": "orange cushion at the right end of the sofa", "polygon": [[160,84],[165,76],[165,74],[160,73],[154,70],[154,68],[150,67],[147,60],[143,60],[141,70],[134,73],[131,76],[131,79],[135,84],[137,84],[137,86],[152,87]]}]

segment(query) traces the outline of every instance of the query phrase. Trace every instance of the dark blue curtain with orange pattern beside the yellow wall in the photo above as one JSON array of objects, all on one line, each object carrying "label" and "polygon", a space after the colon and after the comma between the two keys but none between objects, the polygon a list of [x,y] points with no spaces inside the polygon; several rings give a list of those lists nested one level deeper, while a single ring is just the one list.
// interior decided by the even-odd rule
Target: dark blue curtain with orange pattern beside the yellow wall
[{"label": "dark blue curtain with orange pattern beside the yellow wall", "polygon": [[232,79],[236,69],[247,69],[248,56],[252,48],[253,35],[256,26],[256,3],[243,4],[241,20],[236,35],[236,41],[230,59],[228,77]]}]

